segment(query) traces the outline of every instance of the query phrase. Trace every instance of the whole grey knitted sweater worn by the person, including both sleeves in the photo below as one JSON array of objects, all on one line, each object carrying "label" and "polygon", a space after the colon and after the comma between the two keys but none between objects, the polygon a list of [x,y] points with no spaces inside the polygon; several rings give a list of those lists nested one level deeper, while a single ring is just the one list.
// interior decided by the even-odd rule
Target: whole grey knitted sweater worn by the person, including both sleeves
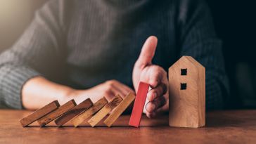
[{"label": "whole grey knitted sweater worn by the person, including both sleeves", "polygon": [[109,79],[132,87],[134,63],[151,35],[158,37],[153,63],[167,70],[181,55],[193,56],[206,68],[207,109],[222,107],[228,89],[222,44],[200,0],[47,2],[0,55],[0,105],[23,108],[23,84],[38,75],[75,89]]}]

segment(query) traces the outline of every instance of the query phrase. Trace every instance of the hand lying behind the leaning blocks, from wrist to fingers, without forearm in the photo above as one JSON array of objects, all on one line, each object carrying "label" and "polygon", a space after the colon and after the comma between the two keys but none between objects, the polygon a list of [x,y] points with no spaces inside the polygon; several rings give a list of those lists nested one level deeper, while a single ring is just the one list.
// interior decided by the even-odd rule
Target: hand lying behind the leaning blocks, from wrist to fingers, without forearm
[{"label": "hand lying behind the leaning blocks, from wrist to fingers, without forearm", "polygon": [[124,98],[130,92],[135,93],[134,90],[129,88],[129,86],[126,86],[116,80],[109,80],[102,84],[98,84],[91,89],[74,90],[69,97],[71,96],[71,98],[74,98],[77,103],[81,103],[86,98],[91,98],[91,100],[95,103],[97,100],[103,98],[103,96],[110,101],[117,94]]}]

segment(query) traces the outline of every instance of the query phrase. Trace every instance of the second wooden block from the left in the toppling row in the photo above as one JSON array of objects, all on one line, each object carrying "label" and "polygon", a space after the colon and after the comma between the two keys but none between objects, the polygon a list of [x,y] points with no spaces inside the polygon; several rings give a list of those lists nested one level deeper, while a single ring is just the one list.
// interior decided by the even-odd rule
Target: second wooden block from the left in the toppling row
[{"label": "second wooden block from the left in the toppling row", "polygon": [[60,117],[60,115],[71,110],[73,107],[75,107],[75,105],[77,105],[75,103],[75,100],[70,100],[64,105],[61,105],[60,107],[58,107],[57,110],[49,114],[46,114],[46,116],[44,117],[41,117],[41,119],[38,119],[37,122],[39,123],[40,126],[45,126],[46,124],[49,124],[49,122],[53,121],[57,117]]}]

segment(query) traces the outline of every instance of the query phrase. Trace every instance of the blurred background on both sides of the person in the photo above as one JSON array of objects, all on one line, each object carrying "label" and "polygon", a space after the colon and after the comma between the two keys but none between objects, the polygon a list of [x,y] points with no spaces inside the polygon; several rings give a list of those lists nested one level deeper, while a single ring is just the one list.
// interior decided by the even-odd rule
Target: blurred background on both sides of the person
[{"label": "blurred background on both sides of the person", "polygon": [[[46,0],[0,1],[0,52],[11,47]],[[230,96],[226,108],[256,108],[255,18],[253,1],[207,0],[223,41]]]}]

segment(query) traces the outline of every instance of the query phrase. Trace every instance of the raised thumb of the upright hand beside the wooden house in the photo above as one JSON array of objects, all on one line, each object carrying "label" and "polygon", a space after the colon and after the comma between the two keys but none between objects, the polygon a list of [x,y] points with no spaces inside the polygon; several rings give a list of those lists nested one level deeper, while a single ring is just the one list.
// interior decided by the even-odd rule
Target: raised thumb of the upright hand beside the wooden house
[{"label": "raised thumb of the upright hand beside the wooden house", "polygon": [[148,37],[148,39],[143,44],[141,49],[141,54],[137,60],[138,65],[151,65],[152,59],[155,55],[155,49],[158,45],[158,38],[155,36]]}]

